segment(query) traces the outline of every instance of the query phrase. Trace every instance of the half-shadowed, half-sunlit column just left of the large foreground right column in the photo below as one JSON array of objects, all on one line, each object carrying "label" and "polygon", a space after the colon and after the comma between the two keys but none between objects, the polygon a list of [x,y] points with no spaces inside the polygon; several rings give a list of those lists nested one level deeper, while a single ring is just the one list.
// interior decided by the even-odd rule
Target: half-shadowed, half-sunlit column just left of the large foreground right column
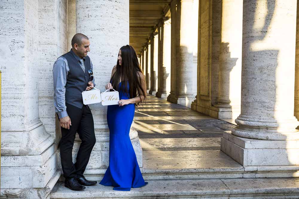
[{"label": "half-shadowed, half-sunlit column just left of the large foreground right column", "polygon": [[242,1],[222,1],[218,118],[236,119],[241,104]]}]

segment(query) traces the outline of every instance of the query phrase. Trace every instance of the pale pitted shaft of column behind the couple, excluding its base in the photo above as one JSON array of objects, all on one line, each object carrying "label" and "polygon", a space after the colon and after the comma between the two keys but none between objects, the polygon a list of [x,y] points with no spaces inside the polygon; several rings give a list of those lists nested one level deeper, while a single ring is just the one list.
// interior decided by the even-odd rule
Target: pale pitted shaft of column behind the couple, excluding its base
[{"label": "pale pitted shaft of column behind the couple, excluding its base", "polygon": [[[118,8],[118,9],[115,9]],[[89,37],[96,87],[105,89],[120,47],[129,44],[129,1],[76,1],[77,33]],[[91,105],[96,129],[108,129],[107,107]]]}]

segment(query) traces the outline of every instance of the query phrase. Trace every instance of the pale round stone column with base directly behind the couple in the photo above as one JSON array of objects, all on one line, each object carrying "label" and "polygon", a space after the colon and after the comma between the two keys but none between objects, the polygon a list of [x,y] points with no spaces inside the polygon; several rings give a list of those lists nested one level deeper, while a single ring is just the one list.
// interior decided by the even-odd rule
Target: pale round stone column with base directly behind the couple
[{"label": "pale round stone column with base directly behind the couple", "polygon": [[[115,10],[115,7],[119,9]],[[106,12],[107,10],[109,12]],[[89,16],[88,19],[86,16]],[[96,87],[104,88],[110,80],[113,66],[117,63],[120,47],[129,43],[129,1],[76,0],[76,17],[77,33],[88,36],[91,43],[89,57],[94,65]],[[115,24],[118,25],[115,26]],[[90,108],[93,113],[97,142],[84,175],[96,177],[102,175],[103,168],[109,165],[109,129],[106,121],[107,107],[94,104]],[[132,132],[133,130],[131,134]],[[80,144],[78,137],[76,141],[78,142],[74,145],[74,151]],[[142,149],[139,138],[133,139],[132,144],[138,164],[142,167]]]}]

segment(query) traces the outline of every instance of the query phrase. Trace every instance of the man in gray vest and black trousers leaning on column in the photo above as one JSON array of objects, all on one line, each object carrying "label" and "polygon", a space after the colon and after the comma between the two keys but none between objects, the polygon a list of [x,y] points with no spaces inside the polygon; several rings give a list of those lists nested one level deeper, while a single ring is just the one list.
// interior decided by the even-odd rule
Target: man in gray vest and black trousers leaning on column
[{"label": "man in gray vest and black trousers leaning on column", "polygon": [[[60,56],[53,66],[54,106],[58,115],[62,138],[60,157],[65,187],[74,191],[96,184],[83,176],[90,153],[95,144],[94,121],[91,111],[83,104],[82,92],[91,90],[94,84],[92,63],[87,56],[87,36],[77,33],[72,38],[72,49]],[[78,132],[82,143],[76,163],[72,161],[74,140]]]}]

